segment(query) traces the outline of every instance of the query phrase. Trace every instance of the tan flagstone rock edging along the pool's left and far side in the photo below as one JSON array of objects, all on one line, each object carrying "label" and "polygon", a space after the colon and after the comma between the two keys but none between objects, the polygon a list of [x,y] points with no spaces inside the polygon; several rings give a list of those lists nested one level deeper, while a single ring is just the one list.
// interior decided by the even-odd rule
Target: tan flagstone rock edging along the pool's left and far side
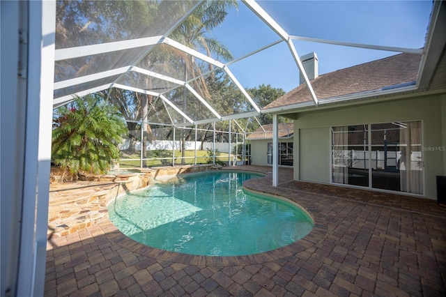
[{"label": "tan flagstone rock edging along the pool's left and far side", "polygon": [[137,169],[126,174],[84,175],[80,181],[57,183],[49,190],[47,236],[65,236],[108,220],[111,201],[148,187],[158,176],[220,169],[218,165],[185,165]]}]

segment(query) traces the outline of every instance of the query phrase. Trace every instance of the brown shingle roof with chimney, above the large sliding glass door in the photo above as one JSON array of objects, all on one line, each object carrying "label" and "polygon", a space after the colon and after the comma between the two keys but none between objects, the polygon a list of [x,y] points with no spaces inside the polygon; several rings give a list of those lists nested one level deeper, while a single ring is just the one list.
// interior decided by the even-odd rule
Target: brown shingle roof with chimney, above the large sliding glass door
[{"label": "brown shingle roof with chimney, above the large sliding glass door", "polygon": [[[401,84],[415,84],[421,56],[397,54],[384,59],[326,73],[310,83],[318,100],[327,100],[348,94],[373,91]],[[306,84],[289,91],[263,109],[284,107],[312,101]]]}]

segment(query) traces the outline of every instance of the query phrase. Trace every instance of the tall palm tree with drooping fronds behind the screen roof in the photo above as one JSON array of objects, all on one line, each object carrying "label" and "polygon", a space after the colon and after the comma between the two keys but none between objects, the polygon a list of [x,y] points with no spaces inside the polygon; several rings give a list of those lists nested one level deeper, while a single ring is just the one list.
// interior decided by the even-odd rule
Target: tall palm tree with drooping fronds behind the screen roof
[{"label": "tall palm tree with drooping fronds behind the screen roof", "polygon": [[[231,52],[220,41],[210,38],[206,33],[212,31],[216,26],[222,24],[224,18],[228,14],[227,10],[237,7],[237,1],[206,1],[200,6],[190,17],[187,18],[181,26],[172,34],[171,38],[190,47],[194,50],[204,50],[208,56],[217,55],[217,58],[229,60],[233,59]],[[187,82],[192,77],[201,75],[199,67],[194,56],[184,52],[176,52],[183,62],[184,80]],[[208,66],[208,70],[212,70],[212,65]],[[190,74],[190,75],[189,75]],[[209,91],[203,77],[197,79],[193,83],[194,88],[203,95],[204,98],[210,99]],[[183,112],[187,112],[187,90],[183,88]],[[181,164],[185,164],[185,131],[181,132]]]}]

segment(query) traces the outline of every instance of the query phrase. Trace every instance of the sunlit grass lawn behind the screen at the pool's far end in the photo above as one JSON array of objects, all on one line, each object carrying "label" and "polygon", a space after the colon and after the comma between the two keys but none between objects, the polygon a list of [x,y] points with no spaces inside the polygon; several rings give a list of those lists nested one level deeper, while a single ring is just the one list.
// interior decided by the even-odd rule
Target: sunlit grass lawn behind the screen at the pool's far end
[{"label": "sunlit grass lawn behind the screen at the pool's far end", "polygon": [[[185,163],[188,165],[195,164],[195,151],[194,150],[186,150],[185,151]],[[127,159],[139,159],[141,158],[141,152],[136,153],[125,153],[121,152],[121,159],[119,162],[119,167],[141,167],[140,160],[127,160]],[[172,151],[164,150],[164,151],[147,151],[147,158],[165,158],[164,160],[146,160],[147,167],[156,167],[156,166],[169,166],[172,164]],[[209,158],[207,151],[198,151],[197,150],[197,164],[206,164],[208,163],[206,159]],[[220,155],[215,157],[223,162],[228,161],[228,153],[220,153]],[[175,150],[175,165],[181,164],[181,152]]]}]

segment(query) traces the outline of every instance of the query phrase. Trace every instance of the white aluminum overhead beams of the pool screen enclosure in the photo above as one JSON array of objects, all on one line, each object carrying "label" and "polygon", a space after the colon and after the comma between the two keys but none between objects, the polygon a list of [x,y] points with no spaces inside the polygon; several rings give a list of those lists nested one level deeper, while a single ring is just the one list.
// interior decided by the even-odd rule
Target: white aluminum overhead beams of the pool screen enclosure
[{"label": "white aluminum overhead beams of the pool screen enclosure", "polygon": [[[245,98],[249,102],[249,104],[252,105],[252,107],[254,107],[254,110],[257,113],[257,115],[261,114],[261,109],[259,108],[259,106],[256,105],[254,100],[252,100],[252,98],[245,91],[245,88],[243,88],[243,86],[240,84],[240,82],[238,82],[238,79],[236,78],[235,75],[233,75],[231,70],[229,70],[228,66],[231,65],[232,63],[235,63],[236,61],[240,61],[242,59],[247,58],[248,56],[252,56],[252,54],[256,54],[257,52],[266,50],[267,48],[272,47],[273,45],[276,45],[282,41],[284,41],[287,44],[287,46],[289,47],[289,51],[291,52],[291,55],[293,56],[295,64],[296,64],[296,66],[298,66],[298,69],[300,70],[300,73],[305,80],[305,84],[307,85],[307,89],[308,89],[308,91],[312,97],[312,100],[313,100],[313,105],[315,105],[315,106],[318,105],[318,98],[316,97],[316,94],[314,93],[312,84],[309,82],[307,73],[305,73],[305,69],[302,66],[302,62],[300,61],[298,52],[295,49],[295,46],[293,45],[293,40],[304,40],[304,41],[309,41],[309,42],[314,42],[314,43],[327,43],[327,44],[332,44],[332,45],[342,45],[342,46],[348,46],[348,47],[361,47],[361,48],[367,48],[367,49],[372,49],[372,50],[385,50],[385,51],[391,51],[391,52],[406,52],[406,53],[410,53],[410,54],[424,54],[423,49],[410,49],[410,48],[404,48],[404,47],[385,47],[385,46],[377,46],[377,45],[364,45],[364,44],[359,44],[359,43],[345,43],[345,42],[339,42],[339,41],[334,41],[334,40],[323,40],[323,39],[319,39],[319,38],[307,38],[307,37],[302,37],[302,36],[292,36],[292,35],[289,35],[282,28],[282,26],[280,26],[268,13],[266,13],[266,11],[263,10],[263,8],[261,8],[261,6],[259,6],[259,4],[256,3],[256,1],[243,0],[242,2],[245,4],[245,6],[247,6],[247,8],[249,8],[249,10],[251,10],[266,25],[268,25],[270,27],[270,29],[272,29],[272,31],[275,31],[275,33],[277,33],[277,35],[280,37],[280,39],[273,43],[270,43],[269,45],[263,46],[263,47],[259,48],[258,50],[254,50],[254,52],[250,52],[249,54],[245,54],[244,56],[241,56],[237,59],[234,59],[233,61],[229,61],[228,63],[224,64],[220,61],[217,61],[216,59],[211,58],[210,56],[206,56],[206,54],[202,54],[201,52],[198,52],[197,50],[193,50],[190,47],[187,47],[181,43],[178,43],[175,40],[172,40],[171,38],[168,38],[167,36],[169,35],[169,33],[171,33],[178,26],[180,26],[180,24],[182,24],[184,22],[184,20],[186,20],[187,17],[192,15],[194,10],[196,10],[197,8],[199,8],[199,6],[201,6],[203,4],[203,1],[200,1],[199,3],[195,4],[190,10],[188,10],[187,13],[185,13],[185,15],[183,15],[183,17],[180,17],[180,19],[176,22],[176,24],[171,26],[171,28],[169,28],[164,33],[164,35],[157,35],[157,36],[151,36],[151,37],[146,37],[146,38],[137,38],[137,39],[132,39],[132,40],[121,40],[121,41],[116,41],[116,42],[112,42],[112,43],[103,43],[103,44],[97,44],[97,45],[85,45],[85,46],[80,46],[80,47],[72,47],[72,48],[56,50],[55,61],[61,61],[63,59],[74,59],[74,58],[77,58],[80,56],[91,56],[94,54],[104,54],[107,52],[114,52],[114,51],[118,51],[118,50],[128,50],[128,49],[133,49],[136,47],[147,47],[147,46],[151,47],[150,49],[146,50],[144,52],[144,54],[139,56],[138,59],[136,59],[135,61],[130,63],[128,66],[123,66],[120,68],[107,70],[107,71],[103,71],[100,73],[93,73],[91,75],[85,75],[82,77],[76,77],[73,79],[66,79],[61,82],[56,82],[54,84],[54,89],[58,90],[58,89],[63,89],[68,86],[75,86],[77,84],[82,84],[84,82],[90,82],[95,79],[102,79],[105,77],[112,77],[113,75],[121,74],[117,79],[114,80],[114,82],[111,82],[110,84],[102,84],[101,86],[95,86],[91,89],[79,91],[79,92],[72,94],[70,96],[62,96],[60,98],[54,98],[54,107],[59,107],[60,105],[65,104],[66,102],[70,102],[73,98],[72,96],[75,96],[75,95],[76,96],[85,96],[87,93],[93,93],[95,91],[101,91],[101,90],[104,90],[104,89],[107,89],[107,88],[110,88],[113,86],[117,86],[116,83],[119,81],[120,77],[122,77],[126,73],[129,73],[130,71],[135,71],[137,73],[141,73],[144,75],[150,75],[151,77],[156,77],[158,79],[166,80],[167,82],[172,82],[174,84],[178,84],[178,86],[170,88],[168,91],[172,91],[173,89],[176,89],[179,86],[185,86],[189,91],[192,92],[192,94],[201,103],[203,103],[203,105],[206,106],[206,108],[212,114],[215,115],[214,119],[209,119],[209,120],[223,121],[224,119],[228,119],[228,118],[229,119],[240,118],[240,116],[238,116],[238,115],[236,115],[236,116],[231,116],[231,115],[221,116],[220,114],[218,114],[215,111],[215,109],[213,109],[213,107],[210,107],[208,102],[205,99],[203,99],[197,93],[197,91],[194,91],[194,89],[190,85],[190,82],[193,82],[194,80],[196,80],[199,77],[202,77],[204,75],[207,75],[208,73],[212,73],[215,70],[210,70],[208,73],[203,73],[203,74],[199,75],[199,77],[192,77],[192,79],[188,80],[187,82],[183,82],[180,79],[175,79],[174,77],[169,77],[168,75],[163,75],[161,73],[155,73],[151,70],[146,70],[146,69],[136,66],[136,64],[139,61],[141,61],[141,59],[143,59],[144,56],[146,56],[146,54],[151,52],[151,50],[153,50],[154,47],[156,47],[157,45],[160,45],[160,44],[165,44],[170,47],[174,47],[176,50],[180,50],[182,52],[190,54],[190,55],[196,57],[197,59],[205,61],[206,63],[210,63],[211,65],[224,70],[224,72],[226,73],[226,75],[228,75],[228,77],[231,79],[231,81],[234,84],[236,84],[236,86],[240,90],[240,92],[243,93],[243,96],[245,96]],[[134,86],[130,86],[130,87],[134,88]],[[141,92],[141,93],[146,93],[146,91],[139,89],[139,88],[134,88],[132,90]],[[164,92],[164,94],[165,93],[167,93],[167,92]],[[162,100],[164,100],[164,102],[167,102],[166,99],[168,99],[168,98],[166,96],[164,96],[164,99],[162,99]],[[167,103],[167,104],[169,104],[169,103]],[[270,111],[268,111],[268,112],[270,112]],[[249,113],[249,115],[247,114],[247,116],[251,116],[252,112],[248,112],[248,113]],[[182,114],[182,116],[187,116],[187,115]],[[189,120],[187,119],[187,121],[189,121]],[[192,124],[204,123],[207,121],[208,120],[206,120],[206,119],[200,120],[200,121],[194,121]]]}]

